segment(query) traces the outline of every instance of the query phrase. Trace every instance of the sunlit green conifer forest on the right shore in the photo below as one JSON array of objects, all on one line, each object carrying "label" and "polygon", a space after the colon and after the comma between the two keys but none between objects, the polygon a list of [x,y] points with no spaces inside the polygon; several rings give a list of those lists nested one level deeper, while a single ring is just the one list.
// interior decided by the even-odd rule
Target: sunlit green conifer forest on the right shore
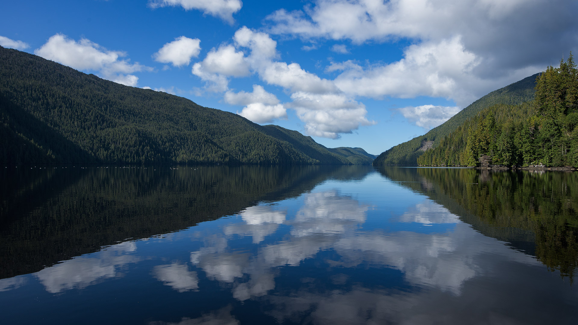
[{"label": "sunlit green conifer forest on the right shore", "polygon": [[536,98],[482,110],[418,159],[420,165],[578,167],[578,69],[570,55],[536,82]]}]

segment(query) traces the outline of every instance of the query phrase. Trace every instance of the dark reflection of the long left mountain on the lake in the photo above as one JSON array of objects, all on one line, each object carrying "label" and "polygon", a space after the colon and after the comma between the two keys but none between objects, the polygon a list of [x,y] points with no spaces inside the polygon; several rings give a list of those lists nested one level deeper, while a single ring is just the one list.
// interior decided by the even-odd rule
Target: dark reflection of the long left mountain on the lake
[{"label": "dark reflection of the long left mountain on the lake", "polygon": [[334,175],[357,179],[370,171],[349,166],[176,168],[5,168],[0,278],[36,272],[128,238],[233,215],[258,201],[294,197]]}]

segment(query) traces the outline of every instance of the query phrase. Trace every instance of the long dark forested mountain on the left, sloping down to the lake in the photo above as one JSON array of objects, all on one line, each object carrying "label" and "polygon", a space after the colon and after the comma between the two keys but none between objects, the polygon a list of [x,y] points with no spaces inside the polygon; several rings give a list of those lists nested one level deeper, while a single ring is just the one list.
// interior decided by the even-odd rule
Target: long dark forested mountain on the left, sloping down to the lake
[{"label": "long dark forested mountain on the left, sloping down to the lake", "polygon": [[0,163],[370,164],[276,125],[0,47]]}]

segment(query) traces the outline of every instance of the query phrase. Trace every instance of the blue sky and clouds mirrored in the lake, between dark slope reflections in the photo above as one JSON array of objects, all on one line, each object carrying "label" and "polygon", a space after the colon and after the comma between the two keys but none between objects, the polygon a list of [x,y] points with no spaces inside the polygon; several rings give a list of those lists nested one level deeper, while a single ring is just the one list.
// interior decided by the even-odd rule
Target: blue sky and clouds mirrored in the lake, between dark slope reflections
[{"label": "blue sky and clouds mirrored in the lake, between dark slope reflections", "polygon": [[553,312],[564,323],[578,298],[531,256],[377,173],[2,279],[0,291],[12,320],[36,297],[49,323],[88,304],[149,324],[524,324]]}]

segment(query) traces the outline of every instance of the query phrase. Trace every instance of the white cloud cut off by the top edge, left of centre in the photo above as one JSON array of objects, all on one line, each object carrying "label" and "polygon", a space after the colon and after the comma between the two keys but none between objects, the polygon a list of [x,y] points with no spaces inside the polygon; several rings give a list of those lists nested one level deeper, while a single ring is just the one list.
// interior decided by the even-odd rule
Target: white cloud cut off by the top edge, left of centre
[{"label": "white cloud cut off by the top edge, left of centre", "polygon": [[241,10],[243,2],[240,0],[150,0],[152,8],[165,6],[181,6],[185,10],[201,10],[205,14],[219,17],[229,24],[233,24],[233,14]]}]

